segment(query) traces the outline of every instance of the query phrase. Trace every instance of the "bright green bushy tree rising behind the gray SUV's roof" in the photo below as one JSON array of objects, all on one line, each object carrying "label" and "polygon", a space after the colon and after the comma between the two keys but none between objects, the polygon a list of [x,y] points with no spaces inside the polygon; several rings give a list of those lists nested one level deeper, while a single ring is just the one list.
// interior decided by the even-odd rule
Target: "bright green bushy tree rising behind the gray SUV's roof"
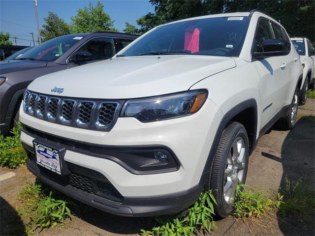
[{"label": "bright green bushy tree rising behind the gray SUV's roof", "polygon": [[104,12],[104,5],[99,1],[94,6],[91,2],[89,7],[77,10],[77,15],[71,17],[71,32],[85,33],[95,31],[114,31],[114,21]]}]

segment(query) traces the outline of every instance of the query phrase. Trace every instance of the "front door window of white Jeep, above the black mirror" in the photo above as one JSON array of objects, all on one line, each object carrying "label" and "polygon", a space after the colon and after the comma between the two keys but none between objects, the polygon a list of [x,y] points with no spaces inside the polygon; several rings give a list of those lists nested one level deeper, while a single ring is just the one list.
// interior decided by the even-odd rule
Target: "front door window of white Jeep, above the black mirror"
[{"label": "front door window of white Jeep, above the black mirror", "polygon": [[261,43],[266,39],[274,39],[274,35],[268,20],[260,20],[258,23],[253,52],[261,52]]}]

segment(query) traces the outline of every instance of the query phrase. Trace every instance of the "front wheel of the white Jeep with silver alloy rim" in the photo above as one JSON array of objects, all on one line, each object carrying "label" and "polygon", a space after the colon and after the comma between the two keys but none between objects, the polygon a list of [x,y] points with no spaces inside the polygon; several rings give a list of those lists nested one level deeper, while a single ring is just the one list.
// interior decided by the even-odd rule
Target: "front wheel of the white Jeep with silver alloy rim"
[{"label": "front wheel of the white Jeep with silver alloy rim", "polygon": [[[249,159],[249,141],[245,127],[233,122],[222,133],[205,190],[212,189],[216,215],[224,218],[233,210],[236,187],[244,184]],[[209,184],[210,183],[210,184]]]}]

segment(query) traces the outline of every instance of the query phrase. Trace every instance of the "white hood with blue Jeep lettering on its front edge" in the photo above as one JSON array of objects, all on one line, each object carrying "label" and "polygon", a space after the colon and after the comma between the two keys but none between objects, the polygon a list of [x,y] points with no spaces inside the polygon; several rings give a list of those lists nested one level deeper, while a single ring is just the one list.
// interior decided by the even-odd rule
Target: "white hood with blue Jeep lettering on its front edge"
[{"label": "white hood with blue Jeep lettering on its front edge", "polygon": [[[226,57],[164,55],[114,58],[39,77],[28,89],[81,98],[147,97],[188,90],[205,77],[235,66],[234,59]],[[63,92],[58,94],[55,87],[63,89]]]}]

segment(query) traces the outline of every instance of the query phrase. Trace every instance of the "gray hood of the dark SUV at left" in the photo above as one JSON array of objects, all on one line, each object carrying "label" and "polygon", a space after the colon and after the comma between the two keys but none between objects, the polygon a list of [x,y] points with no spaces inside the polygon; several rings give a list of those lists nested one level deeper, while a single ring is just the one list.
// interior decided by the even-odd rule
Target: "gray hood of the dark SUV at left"
[{"label": "gray hood of the dark SUV at left", "polygon": [[45,67],[46,65],[47,65],[46,61],[34,60],[10,60],[7,62],[0,62],[0,75],[14,71]]}]

